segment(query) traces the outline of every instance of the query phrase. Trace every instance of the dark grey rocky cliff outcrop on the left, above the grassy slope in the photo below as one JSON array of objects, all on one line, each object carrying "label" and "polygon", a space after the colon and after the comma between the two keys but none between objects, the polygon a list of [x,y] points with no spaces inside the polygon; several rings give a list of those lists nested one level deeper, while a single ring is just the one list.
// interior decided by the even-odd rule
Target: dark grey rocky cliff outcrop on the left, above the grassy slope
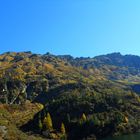
[{"label": "dark grey rocky cliff outcrop on the left, above the grassy slope", "polygon": [[21,104],[26,100],[33,101],[36,96],[46,93],[48,90],[47,81],[22,81],[0,82],[0,102],[7,104]]}]

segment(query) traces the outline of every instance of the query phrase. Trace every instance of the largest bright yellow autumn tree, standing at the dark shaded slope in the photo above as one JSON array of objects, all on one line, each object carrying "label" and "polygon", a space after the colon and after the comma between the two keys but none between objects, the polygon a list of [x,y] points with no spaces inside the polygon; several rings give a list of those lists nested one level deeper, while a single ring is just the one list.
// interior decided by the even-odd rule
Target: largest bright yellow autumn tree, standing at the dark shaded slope
[{"label": "largest bright yellow autumn tree, standing at the dark shaded slope", "polygon": [[43,125],[45,129],[52,130],[53,125],[52,125],[52,119],[50,113],[47,113],[46,117],[44,118]]}]

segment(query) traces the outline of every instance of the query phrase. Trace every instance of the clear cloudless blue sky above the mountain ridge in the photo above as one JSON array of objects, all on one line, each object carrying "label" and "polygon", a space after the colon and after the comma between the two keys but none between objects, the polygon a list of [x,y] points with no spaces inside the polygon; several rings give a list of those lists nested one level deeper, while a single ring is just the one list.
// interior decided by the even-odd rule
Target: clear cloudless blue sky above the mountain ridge
[{"label": "clear cloudless blue sky above the mountain ridge", "polygon": [[0,0],[0,53],[140,55],[140,0]]}]

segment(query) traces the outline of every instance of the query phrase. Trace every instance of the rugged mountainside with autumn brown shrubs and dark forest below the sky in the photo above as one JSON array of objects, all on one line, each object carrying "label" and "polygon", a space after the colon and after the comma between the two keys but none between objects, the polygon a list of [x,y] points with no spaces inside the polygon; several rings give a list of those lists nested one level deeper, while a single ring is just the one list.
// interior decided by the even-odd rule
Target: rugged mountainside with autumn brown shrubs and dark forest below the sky
[{"label": "rugged mountainside with autumn brown shrubs and dark forest below the sky", "polygon": [[[8,110],[24,105],[28,108],[27,102],[43,105],[40,111],[35,110],[33,117],[25,115],[26,122],[20,120],[20,127],[11,123],[16,128],[14,139],[17,130],[32,132],[41,139],[45,136],[45,139],[68,140],[98,139],[138,131],[140,72],[139,65],[130,62],[130,57],[140,62],[140,57],[118,53],[94,58],[31,52],[0,55],[0,103],[6,104]],[[126,66],[125,61],[130,65]],[[0,120],[5,112],[3,108]],[[52,119],[51,128],[46,125],[48,116],[49,122]],[[11,117],[4,120],[7,119]],[[3,124],[0,121],[0,125]],[[10,140],[9,133],[11,131],[7,132]]]}]

